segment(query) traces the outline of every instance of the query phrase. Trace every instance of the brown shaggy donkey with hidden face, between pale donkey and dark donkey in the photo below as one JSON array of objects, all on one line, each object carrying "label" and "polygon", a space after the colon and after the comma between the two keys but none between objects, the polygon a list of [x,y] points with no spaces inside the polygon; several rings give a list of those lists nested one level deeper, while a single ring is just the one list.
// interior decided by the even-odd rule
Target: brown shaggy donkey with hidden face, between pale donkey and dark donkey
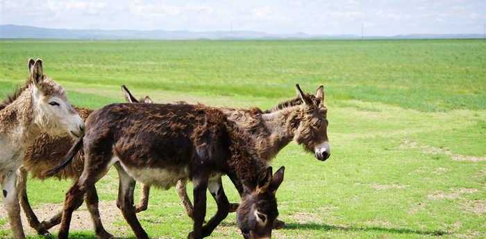
[{"label": "brown shaggy donkey with hidden face, between pale donkey and dark donkey", "polygon": [[[126,89],[125,86],[121,86],[121,89],[124,93],[124,96],[128,102],[131,103],[138,103],[139,100],[136,100]],[[140,99],[142,103],[152,103],[152,100],[149,96],[145,96],[145,98]],[[93,110],[87,109],[83,107],[74,107],[76,112],[80,114],[81,118],[85,120],[87,116],[89,116]],[[28,223],[31,225],[37,233],[42,236],[50,236],[49,229],[51,227],[56,226],[60,223],[62,212],[57,213],[53,216],[53,218],[39,222],[37,216],[35,215],[34,211],[31,208],[31,205],[28,202],[27,191],[26,191],[26,183],[27,183],[27,176],[28,172],[31,172],[31,176],[33,178],[44,180],[46,179],[46,175],[44,174],[47,170],[58,166],[59,163],[64,160],[65,155],[69,152],[69,149],[73,145],[74,141],[69,136],[51,136],[46,133],[40,134],[37,136],[37,139],[33,142],[32,145],[29,145],[25,157],[24,163],[22,167],[19,169],[19,186],[18,191],[20,195],[20,204],[22,205],[22,209],[24,209],[24,213],[26,214],[26,218]],[[83,154],[79,152],[76,154],[72,163],[69,164],[63,170],[60,170],[56,175],[52,177],[56,177],[58,179],[78,179],[81,176],[81,172],[83,172],[84,167],[84,158]],[[94,229],[97,233],[98,238],[112,238],[113,236],[108,233],[104,228],[103,224],[101,223],[99,209],[98,209],[98,194],[96,188],[92,188],[92,190],[87,191],[85,195],[85,201],[88,211],[91,214],[91,218],[94,222]]]}]

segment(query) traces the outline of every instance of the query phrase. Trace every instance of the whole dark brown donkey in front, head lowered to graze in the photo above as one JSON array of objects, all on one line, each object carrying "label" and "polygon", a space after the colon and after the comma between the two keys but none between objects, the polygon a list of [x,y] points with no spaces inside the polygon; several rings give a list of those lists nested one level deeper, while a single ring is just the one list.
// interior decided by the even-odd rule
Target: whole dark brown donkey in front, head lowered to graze
[{"label": "whole dark brown donkey in front, head lowered to graze", "polygon": [[[194,184],[194,226],[188,238],[210,236],[226,218],[229,202],[221,175],[231,177],[242,190],[237,222],[245,238],[269,238],[278,215],[276,191],[284,168],[271,175],[267,161],[248,147],[251,138],[217,108],[179,104],[112,104],[93,112],[85,137],[76,142],[67,159],[51,174],[69,164],[82,148],[85,166],[66,193],[59,238],[67,238],[72,212],[83,194],[114,165],[119,173],[119,202],[124,218],[137,238],[148,238],[133,207],[135,179],[161,188],[179,179]],[[217,202],[217,213],[203,226],[206,189]]]}]

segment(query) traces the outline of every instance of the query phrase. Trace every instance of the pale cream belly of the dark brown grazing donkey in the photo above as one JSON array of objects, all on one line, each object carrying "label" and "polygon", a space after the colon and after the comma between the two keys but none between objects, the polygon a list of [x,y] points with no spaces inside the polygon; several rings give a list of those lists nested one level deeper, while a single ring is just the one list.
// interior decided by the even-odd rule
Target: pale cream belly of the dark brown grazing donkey
[{"label": "pale cream belly of the dark brown grazing donkey", "polygon": [[[121,163],[121,162],[120,162]],[[135,168],[121,163],[128,175],[143,184],[154,185],[160,188],[169,189],[176,186],[179,179],[189,177],[187,167],[181,168]]]}]

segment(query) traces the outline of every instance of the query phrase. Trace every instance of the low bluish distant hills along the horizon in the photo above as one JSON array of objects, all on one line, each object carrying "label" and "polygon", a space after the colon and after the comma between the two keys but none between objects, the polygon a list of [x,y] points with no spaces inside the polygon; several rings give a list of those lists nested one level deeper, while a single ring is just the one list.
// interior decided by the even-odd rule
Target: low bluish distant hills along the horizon
[{"label": "low bluish distant hills along the horizon", "polygon": [[[306,33],[269,34],[258,31],[186,30],[75,30],[0,25],[0,38],[23,39],[360,39],[358,35],[309,35]],[[481,34],[412,34],[393,37],[368,36],[364,39],[471,39]]]}]

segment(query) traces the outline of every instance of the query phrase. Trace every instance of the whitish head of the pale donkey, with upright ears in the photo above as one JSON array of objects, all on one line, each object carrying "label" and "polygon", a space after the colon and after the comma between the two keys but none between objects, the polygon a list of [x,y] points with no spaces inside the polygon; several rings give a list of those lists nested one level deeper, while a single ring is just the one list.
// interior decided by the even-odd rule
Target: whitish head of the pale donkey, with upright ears
[{"label": "whitish head of the pale donkey, with upright ears", "polygon": [[32,107],[35,125],[53,135],[65,132],[73,137],[84,134],[85,125],[79,114],[67,100],[64,89],[54,80],[44,75],[42,60],[30,59],[28,70],[31,73]]}]

